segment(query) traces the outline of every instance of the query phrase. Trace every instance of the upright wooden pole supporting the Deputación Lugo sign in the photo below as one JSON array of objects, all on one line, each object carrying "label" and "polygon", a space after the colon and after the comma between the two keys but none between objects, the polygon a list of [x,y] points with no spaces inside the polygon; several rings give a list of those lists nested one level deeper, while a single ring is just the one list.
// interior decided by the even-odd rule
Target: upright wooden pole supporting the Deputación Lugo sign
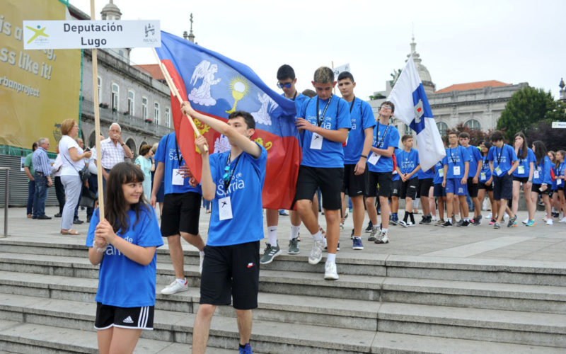
[{"label": "upright wooden pole supporting the Deputaci\u00f3n Lugo sign", "polygon": [[[91,0],[91,20],[94,21],[94,0]],[[98,107],[98,52],[93,48],[93,110],[94,110],[94,131],[95,131],[95,146],[96,146],[96,173],[98,182],[98,212],[100,213],[100,220],[104,219],[104,188],[102,183],[102,154],[100,154],[100,107]]]}]

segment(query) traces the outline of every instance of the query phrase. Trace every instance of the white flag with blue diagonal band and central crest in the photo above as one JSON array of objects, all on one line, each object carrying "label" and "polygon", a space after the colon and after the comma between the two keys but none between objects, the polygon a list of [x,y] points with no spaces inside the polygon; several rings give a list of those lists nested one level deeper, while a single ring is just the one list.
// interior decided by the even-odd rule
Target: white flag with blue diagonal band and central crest
[{"label": "white flag with blue diagonal band and central crest", "polygon": [[440,133],[430,109],[412,55],[387,98],[395,105],[395,117],[417,132],[417,150],[422,171],[429,170],[446,156]]}]

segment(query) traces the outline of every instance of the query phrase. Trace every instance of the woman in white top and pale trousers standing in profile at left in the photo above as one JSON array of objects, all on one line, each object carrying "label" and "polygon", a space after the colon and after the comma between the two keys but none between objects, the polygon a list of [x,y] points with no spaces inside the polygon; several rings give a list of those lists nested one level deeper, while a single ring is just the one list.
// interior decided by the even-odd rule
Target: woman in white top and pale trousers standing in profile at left
[{"label": "woman in white top and pale trousers standing in profile at left", "polygon": [[65,188],[67,200],[63,208],[61,218],[61,233],[64,235],[79,235],[73,227],[74,211],[81,198],[81,178],[79,171],[83,169],[84,160],[91,157],[91,152],[83,152],[76,143],[75,138],[79,135],[79,125],[74,119],[66,119],[61,123],[61,134],[59,141],[59,154],[62,156],[63,166],[61,168],[61,183]]}]

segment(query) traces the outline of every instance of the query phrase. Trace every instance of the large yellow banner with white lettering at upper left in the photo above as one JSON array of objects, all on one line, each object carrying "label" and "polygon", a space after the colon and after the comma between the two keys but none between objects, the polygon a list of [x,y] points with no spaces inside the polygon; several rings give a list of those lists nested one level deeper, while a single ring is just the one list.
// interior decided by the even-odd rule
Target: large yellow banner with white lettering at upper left
[{"label": "large yellow banner with white lettering at upper left", "polygon": [[79,118],[81,50],[23,50],[23,20],[65,20],[59,0],[0,1],[0,144],[54,152],[61,122]]}]

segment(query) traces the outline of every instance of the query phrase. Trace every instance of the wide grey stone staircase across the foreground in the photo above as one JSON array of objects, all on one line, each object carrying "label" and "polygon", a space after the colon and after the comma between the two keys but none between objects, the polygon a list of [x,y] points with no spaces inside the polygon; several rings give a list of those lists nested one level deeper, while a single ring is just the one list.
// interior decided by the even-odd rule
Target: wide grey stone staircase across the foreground
[{"label": "wide grey stone staircase across the foreground", "polygon": [[[0,240],[0,353],[96,353],[98,268],[79,239]],[[306,245],[305,245],[306,246]],[[372,255],[337,258],[340,280],[306,252],[260,273],[255,353],[565,353],[564,263]],[[154,331],[136,353],[187,353],[199,302],[198,254],[185,251],[191,289],[157,294]],[[158,249],[157,288],[171,282]],[[208,353],[235,353],[236,315],[219,307]]]}]

